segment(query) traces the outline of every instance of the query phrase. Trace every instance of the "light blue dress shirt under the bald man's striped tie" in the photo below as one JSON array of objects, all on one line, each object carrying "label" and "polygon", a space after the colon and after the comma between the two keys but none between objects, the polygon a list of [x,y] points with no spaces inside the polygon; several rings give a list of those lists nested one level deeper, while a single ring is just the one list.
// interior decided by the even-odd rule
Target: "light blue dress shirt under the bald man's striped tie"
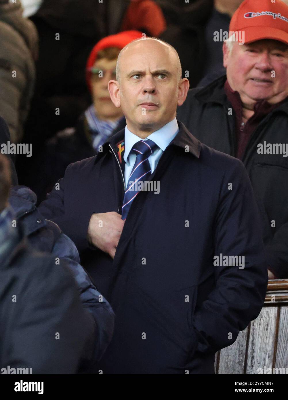
[{"label": "light blue dress shirt under the bald man's striped tie", "polygon": [[[179,132],[178,123],[177,123],[176,118],[174,118],[174,120],[168,122],[168,124],[162,126],[162,128],[156,130],[155,132],[152,132],[149,136],[147,136],[146,139],[153,140],[153,142],[156,143],[157,146],[159,147],[159,148],[156,148],[156,150],[154,150],[154,152],[148,158],[152,172],[154,172],[154,170],[158,164],[158,161],[159,161],[160,157],[162,156],[164,150],[166,149],[168,144],[171,142],[171,140],[173,140],[175,138],[175,136],[177,135],[178,132]],[[146,140],[146,139],[144,139],[144,140]],[[124,142],[125,142],[124,160],[126,162],[124,178],[125,178],[125,186],[126,187],[127,187],[127,183],[129,180],[129,176],[132,172],[132,168],[136,161],[136,153],[134,151],[131,152],[131,149],[134,146],[134,144],[139,142],[140,140],[142,140],[142,139],[139,138],[139,136],[134,135],[134,133],[130,132],[130,130],[127,128],[127,125],[126,125],[125,136],[124,136]]]}]

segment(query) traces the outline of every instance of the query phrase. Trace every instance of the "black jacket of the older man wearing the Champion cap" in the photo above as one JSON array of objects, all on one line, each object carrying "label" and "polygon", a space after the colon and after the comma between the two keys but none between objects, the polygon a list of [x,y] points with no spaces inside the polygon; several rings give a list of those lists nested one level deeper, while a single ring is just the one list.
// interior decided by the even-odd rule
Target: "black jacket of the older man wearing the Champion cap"
[{"label": "black jacket of the older man wearing the Champion cap", "polygon": [[[288,99],[271,107],[256,104],[252,132],[239,155],[237,112],[225,82],[226,75],[189,90],[177,118],[207,146],[242,160],[261,216],[268,268],[277,278],[288,278]],[[278,154],[270,154],[273,144]]]}]

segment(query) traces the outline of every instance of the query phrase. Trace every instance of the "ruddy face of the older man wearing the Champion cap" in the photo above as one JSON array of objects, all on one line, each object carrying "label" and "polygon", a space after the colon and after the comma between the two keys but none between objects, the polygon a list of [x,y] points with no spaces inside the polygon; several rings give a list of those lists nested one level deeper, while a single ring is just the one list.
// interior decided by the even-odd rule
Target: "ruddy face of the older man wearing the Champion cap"
[{"label": "ruddy face of the older man wearing the Champion cap", "polygon": [[229,54],[224,44],[224,67],[233,90],[245,104],[265,99],[270,104],[288,96],[288,46],[277,40],[251,44],[233,43]]}]

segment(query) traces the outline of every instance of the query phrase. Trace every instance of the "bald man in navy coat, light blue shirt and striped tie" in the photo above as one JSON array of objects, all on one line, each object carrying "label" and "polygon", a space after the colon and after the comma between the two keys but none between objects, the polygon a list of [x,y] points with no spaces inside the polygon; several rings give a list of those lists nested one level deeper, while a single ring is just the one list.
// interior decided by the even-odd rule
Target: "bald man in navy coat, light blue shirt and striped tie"
[{"label": "bald man in navy coat, light blue shirt and striped tie", "polygon": [[[262,308],[268,281],[243,164],[176,120],[178,54],[124,47],[108,89],[126,127],[68,166],[40,211],[74,240],[116,314],[96,373],[214,374],[214,355]],[[213,129],[213,122],[211,122]]]}]

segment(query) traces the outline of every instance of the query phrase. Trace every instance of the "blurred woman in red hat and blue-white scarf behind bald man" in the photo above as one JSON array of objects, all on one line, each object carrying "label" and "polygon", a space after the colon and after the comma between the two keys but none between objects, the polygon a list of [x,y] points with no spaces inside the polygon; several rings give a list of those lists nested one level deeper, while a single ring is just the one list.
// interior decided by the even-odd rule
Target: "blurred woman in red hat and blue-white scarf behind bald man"
[{"label": "blurred woman in red hat and blue-white scarf behind bald man", "polygon": [[110,79],[116,80],[116,62],[121,49],[141,36],[135,30],[120,32],[101,39],[92,49],[86,65],[86,81],[93,102],[75,128],[66,128],[47,142],[40,171],[43,179],[35,190],[39,202],[64,176],[69,164],[94,156],[114,132],[125,127],[122,110],[112,103],[107,84]]}]

